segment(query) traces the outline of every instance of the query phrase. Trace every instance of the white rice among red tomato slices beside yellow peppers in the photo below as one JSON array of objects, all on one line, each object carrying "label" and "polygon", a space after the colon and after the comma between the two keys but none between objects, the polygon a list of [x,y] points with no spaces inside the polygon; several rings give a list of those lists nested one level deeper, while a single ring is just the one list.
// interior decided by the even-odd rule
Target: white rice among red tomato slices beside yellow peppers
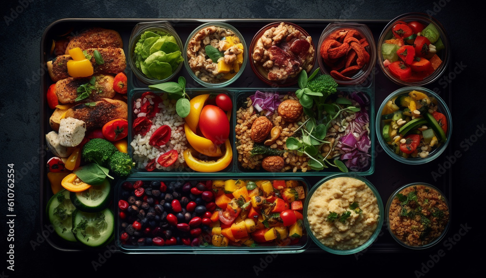
[{"label": "white rice among red tomato slices beside yellow peppers", "polygon": [[[141,136],[140,134],[135,135],[132,142],[130,142],[133,150],[133,159],[137,168],[144,169],[152,159],[155,158],[157,160],[160,155],[171,149],[175,149],[179,154],[177,161],[170,167],[162,167],[160,164],[156,163],[156,168],[166,171],[184,170],[184,156],[182,153],[189,146],[186,139],[186,133],[184,132],[184,119],[175,112],[174,100],[169,100],[167,94],[162,94],[160,97],[162,98],[162,102],[158,105],[160,111],[156,113],[154,118],[150,119],[152,121],[152,127],[145,136]],[[144,101],[146,101],[146,99],[144,99]],[[149,102],[153,104],[152,99],[149,99]],[[142,100],[140,98],[135,100],[134,114],[137,117],[146,116],[146,113],[139,112],[138,110],[141,103]],[[163,125],[171,127],[171,140],[167,142],[165,146],[160,148],[149,145],[152,133]]]}]

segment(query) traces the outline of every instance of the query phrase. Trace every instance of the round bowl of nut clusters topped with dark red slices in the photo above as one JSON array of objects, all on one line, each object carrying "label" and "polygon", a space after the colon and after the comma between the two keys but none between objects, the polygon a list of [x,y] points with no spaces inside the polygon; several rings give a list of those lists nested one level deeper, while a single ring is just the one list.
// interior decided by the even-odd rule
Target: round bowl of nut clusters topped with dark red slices
[{"label": "round bowl of nut clusters topped with dark red slices", "polygon": [[[275,37],[272,37],[271,34],[265,34],[272,28],[277,32],[279,29],[287,28],[288,33],[292,33],[295,29],[301,35],[292,40],[292,44],[289,45],[289,42],[285,41],[286,37],[278,37],[277,40],[274,40]],[[261,41],[263,36],[268,37],[266,39],[268,42],[265,44]],[[250,43],[249,59],[255,75],[267,85],[292,86],[297,84],[299,68],[306,69],[308,74],[311,73],[315,61],[315,46],[311,36],[297,24],[285,21],[274,22],[261,28],[253,37]],[[296,63],[289,67],[289,61]],[[270,68],[278,68],[278,70],[270,72]],[[285,72],[289,69],[290,71]]]}]

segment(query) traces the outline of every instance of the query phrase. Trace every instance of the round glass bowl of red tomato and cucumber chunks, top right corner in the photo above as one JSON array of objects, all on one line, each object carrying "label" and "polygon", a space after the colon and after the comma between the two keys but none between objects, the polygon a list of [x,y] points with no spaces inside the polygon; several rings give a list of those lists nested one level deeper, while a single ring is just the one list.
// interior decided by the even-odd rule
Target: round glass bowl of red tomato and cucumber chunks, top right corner
[{"label": "round glass bowl of red tomato and cucumber chunks, top right corner", "polygon": [[[405,22],[406,25],[397,25],[403,22]],[[429,24],[432,24],[430,26],[432,28],[427,27]],[[408,28],[406,26],[408,26]],[[417,38],[400,41],[399,38],[395,37],[393,33],[394,27],[400,34],[403,34],[399,35],[397,33],[396,36],[408,36],[410,32],[412,32],[413,35],[411,37],[417,35],[418,30],[422,27],[427,29],[425,29],[426,31],[422,30],[420,32],[419,35],[421,36],[419,36],[419,44],[415,44]],[[403,27],[403,29],[401,29],[401,27]],[[432,31],[430,31],[430,29],[432,29]],[[424,39],[424,37],[430,37],[432,40]],[[426,43],[424,43],[424,41]],[[430,44],[427,44],[427,42],[432,43],[435,50],[432,50],[432,48],[429,47]],[[399,43],[399,45],[394,45],[397,43]],[[413,52],[415,53],[416,58],[413,59],[414,61],[411,65],[404,63],[397,54],[397,51],[401,52],[399,48],[402,47],[403,44],[411,45],[414,48]],[[420,45],[422,45],[422,47],[420,47]],[[434,18],[421,13],[407,13],[391,20],[385,26],[378,39],[377,50],[378,62],[382,72],[390,80],[401,86],[423,86],[434,82],[439,76],[444,74],[451,57],[449,38],[442,24]],[[420,51],[419,55],[417,55],[417,51]],[[408,50],[406,55],[409,55],[408,52],[410,51]],[[434,55],[434,52],[436,56]],[[424,58],[430,63],[424,61]],[[385,62],[385,60],[387,61]],[[390,62],[395,64],[390,65]],[[390,71],[390,66],[394,69],[393,71]]]}]

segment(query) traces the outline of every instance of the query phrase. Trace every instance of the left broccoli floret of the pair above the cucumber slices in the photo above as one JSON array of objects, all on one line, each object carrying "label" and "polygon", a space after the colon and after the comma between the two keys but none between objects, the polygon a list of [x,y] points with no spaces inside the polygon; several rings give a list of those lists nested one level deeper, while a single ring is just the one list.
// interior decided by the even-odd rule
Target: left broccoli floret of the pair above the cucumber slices
[{"label": "left broccoli floret of the pair above the cucumber slices", "polygon": [[117,147],[110,141],[101,138],[93,138],[83,146],[82,155],[88,162],[106,166],[108,159],[116,151],[118,151]]}]

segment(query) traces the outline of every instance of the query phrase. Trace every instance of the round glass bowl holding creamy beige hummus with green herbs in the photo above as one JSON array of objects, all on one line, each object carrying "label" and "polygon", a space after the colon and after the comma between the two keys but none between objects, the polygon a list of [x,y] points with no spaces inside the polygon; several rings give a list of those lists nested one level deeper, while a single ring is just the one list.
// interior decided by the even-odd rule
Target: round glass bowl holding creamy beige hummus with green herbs
[{"label": "round glass bowl holding creamy beige hummus with green herbs", "polygon": [[304,202],[308,235],[332,254],[349,255],[364,250],[376,240],[383,222],[380,194],[358,175],[330,175],[311,188]]}]

